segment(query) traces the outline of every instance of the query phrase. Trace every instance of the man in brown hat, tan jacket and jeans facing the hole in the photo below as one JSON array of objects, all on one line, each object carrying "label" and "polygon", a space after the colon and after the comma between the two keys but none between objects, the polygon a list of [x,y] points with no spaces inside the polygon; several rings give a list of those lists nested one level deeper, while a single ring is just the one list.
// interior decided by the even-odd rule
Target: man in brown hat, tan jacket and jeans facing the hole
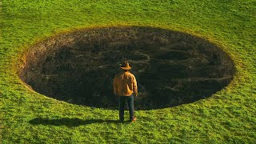
[{"label": "man in brown hat, tan jacket and jeans facing the hole", "polygon": [[129,106],[130,122],[135,122],[137,118],[134,116],[134,96],[138,95],[138,88],[134,74],[130,73],[131,66],[125,61],[120,64],[122,73],[116,74],[114,77],[114,95],[119,97],[119,120],[124,120],[124,110],[126,101]]}]

